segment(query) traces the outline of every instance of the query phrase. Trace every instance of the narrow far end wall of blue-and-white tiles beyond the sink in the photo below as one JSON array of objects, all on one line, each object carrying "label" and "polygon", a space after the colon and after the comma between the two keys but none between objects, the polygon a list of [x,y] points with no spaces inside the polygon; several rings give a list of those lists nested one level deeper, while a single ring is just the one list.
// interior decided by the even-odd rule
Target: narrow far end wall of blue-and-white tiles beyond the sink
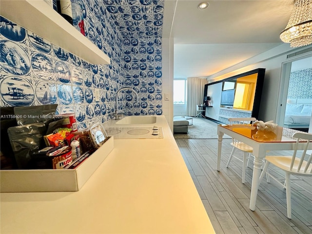
[{"label": "narrow far end wall of blue-and-white tiles beyond the sink", "polygon": [[164,0],[103,2],[123,37],[125,86],[139,95],[139,102],[127,102],[126,114],[161,115]]}]

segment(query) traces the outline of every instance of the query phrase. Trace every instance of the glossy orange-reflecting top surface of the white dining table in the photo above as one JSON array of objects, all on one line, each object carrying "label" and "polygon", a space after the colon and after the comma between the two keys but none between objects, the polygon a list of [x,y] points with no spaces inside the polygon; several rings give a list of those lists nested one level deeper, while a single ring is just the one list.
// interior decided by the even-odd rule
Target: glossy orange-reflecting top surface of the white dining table
[{"label": "glossy orange-reflecting top surface of the white dining table", "polygon": [[292,137],[294,133],[300,132],[289,128],[277,126],[273,131],[263,131],[256,128],[256,124],[218,125],[218,127],[231,130],[242,136],[253,139],[257,142],[296,142]]}]

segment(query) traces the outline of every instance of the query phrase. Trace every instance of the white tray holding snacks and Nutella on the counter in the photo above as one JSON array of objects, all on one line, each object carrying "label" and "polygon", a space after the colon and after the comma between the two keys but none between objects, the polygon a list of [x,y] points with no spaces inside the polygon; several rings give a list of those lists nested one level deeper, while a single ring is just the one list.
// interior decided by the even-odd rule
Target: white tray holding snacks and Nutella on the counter
[{"label": "white tray holding snacks and Nutella on the counter", "polygon": [[114,148],[110,137],[76,169],[1,170],[0,192],[78,191]]}]

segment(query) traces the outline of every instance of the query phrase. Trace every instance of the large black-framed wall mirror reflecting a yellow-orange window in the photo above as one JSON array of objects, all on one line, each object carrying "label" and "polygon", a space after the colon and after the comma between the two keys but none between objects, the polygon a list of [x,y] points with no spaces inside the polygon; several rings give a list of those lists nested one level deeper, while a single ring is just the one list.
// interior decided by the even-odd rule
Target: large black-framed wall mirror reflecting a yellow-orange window
[{"label": "large black-framed wall mirror reflecting a yellow-orange window", "polygon": [[213,103],[206,117],[225,123],[229,117],[258,118],[264,74],[265,68],[258,68],[206,84],[204,97]]}]

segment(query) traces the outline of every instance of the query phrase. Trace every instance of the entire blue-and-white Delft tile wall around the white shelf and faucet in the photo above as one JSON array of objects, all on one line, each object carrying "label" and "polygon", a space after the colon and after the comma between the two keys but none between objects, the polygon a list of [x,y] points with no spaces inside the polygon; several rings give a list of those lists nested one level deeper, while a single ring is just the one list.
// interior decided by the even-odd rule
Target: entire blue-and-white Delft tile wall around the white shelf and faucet
[{"label": "entire blue-and-white Delft tile wall around the white shelf and faucet", "polygon": [[[95,65],[0,17],[1,106],[58,104],[78,128],[126,115],[162,114],[161,33],[164,0],[72,0],[74,27],[107,54]],[[60,35],[61,36],[61,35]],[[99,101],[95,99],[99,92]]]}]

